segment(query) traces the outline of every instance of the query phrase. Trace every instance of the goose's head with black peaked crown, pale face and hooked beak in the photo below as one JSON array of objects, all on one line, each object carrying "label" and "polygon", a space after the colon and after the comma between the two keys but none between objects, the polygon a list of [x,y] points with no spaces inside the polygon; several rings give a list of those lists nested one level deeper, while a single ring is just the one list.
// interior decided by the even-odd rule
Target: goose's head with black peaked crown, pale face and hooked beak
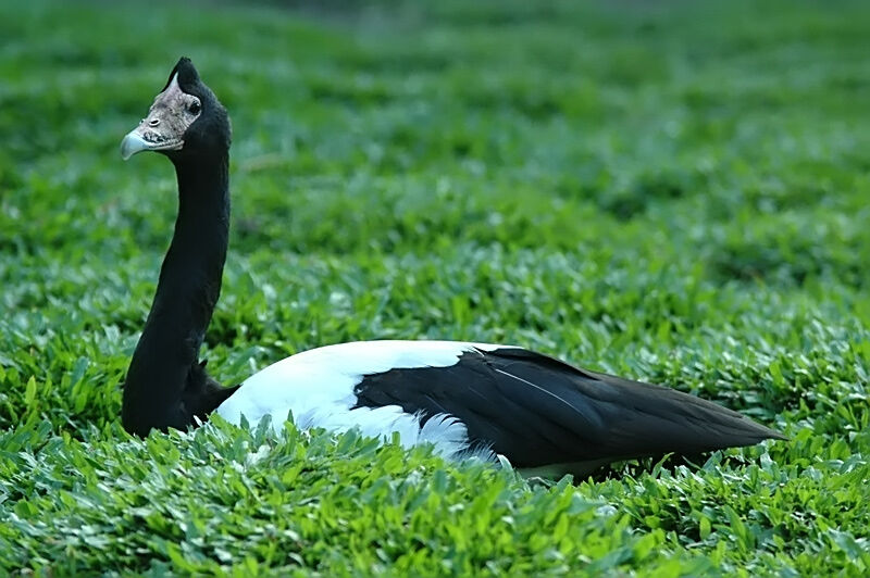
[{"label": "goose's head with black peaked crown, pale face and hooked beak", "polygon": [[121,156],[158,151],[173,160],[225,153],[229,117],[190,59],[182,58],[139,126],[121,141]]}]

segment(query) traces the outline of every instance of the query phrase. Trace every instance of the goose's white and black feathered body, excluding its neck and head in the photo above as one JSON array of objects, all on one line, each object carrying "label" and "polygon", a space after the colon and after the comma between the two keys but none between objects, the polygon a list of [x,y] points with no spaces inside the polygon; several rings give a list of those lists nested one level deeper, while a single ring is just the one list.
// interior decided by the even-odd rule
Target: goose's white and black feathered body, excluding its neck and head
[{"label": "goose's white and black feathered body, excluding its neck and head", "polygon": [[[620,458],[750,445],[774,431],[680,391],[510,345],[359,341],[306,351],[248,378],[216,412],[370,436],[449,457],[588,472]],[[558,468],[557,468],[558,469]]]}]

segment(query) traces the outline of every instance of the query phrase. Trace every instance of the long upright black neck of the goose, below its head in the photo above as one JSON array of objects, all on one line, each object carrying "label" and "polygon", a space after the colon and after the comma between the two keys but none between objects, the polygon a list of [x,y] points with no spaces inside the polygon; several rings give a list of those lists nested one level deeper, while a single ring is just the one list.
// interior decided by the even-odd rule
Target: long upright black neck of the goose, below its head
[{"label": "long upright black neck of the goose, below its head", "polygon": [[124,386],[122,419],[132,432],[184,428],[194,412],[185,389],[221,293],[229,234],[228,158],[175,163],[178,217]]}]

